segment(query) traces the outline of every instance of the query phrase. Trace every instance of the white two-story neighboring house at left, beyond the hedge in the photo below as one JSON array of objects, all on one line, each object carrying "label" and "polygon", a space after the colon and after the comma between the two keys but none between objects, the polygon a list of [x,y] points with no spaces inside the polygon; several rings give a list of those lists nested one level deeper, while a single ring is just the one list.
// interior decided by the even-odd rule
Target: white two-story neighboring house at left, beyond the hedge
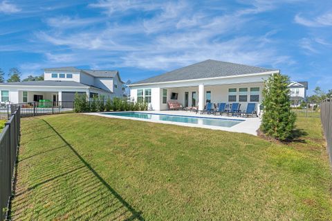
[{"label": "white two-story neighboring house at left, beyond the hedge", "polygon": [[30,103],[39,100],[73,101],[75,93],[89,98],[124,96],[118,71],[85,70],[75,67],[44,69],[44,80],[0,84],[1,103]]}]

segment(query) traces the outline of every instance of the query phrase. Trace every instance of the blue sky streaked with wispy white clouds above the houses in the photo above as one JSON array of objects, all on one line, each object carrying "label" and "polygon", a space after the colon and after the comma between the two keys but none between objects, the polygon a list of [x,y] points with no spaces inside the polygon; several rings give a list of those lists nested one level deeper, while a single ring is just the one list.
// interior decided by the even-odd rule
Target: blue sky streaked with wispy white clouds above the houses
[{"label": "blue sky streaked with wispy white clouds above the houses", "polygon": [[117,69],[132,82],[207,59],[332,89],[332,1],[0,0],[0,67]]}]

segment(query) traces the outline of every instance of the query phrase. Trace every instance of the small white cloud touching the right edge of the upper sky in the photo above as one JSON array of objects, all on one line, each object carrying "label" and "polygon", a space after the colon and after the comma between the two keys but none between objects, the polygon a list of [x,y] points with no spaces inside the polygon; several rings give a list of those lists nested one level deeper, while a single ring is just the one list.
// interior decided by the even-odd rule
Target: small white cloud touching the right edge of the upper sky
[{"label": "small white cloud touching the right edge of the upper sky", "polygon": [[313,19],[306,19],[300,14],[295,15],[294,21],[297,24],[308,27],[323,27],[323,26],[332,26],[332,12],[326,12],[323,15],[315,17]]}]

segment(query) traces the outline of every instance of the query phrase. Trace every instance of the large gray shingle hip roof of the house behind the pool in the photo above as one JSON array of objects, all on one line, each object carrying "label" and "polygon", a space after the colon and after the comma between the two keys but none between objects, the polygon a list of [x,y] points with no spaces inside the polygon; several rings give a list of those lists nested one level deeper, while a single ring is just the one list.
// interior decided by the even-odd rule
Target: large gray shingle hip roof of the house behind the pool
[{"label": "large gray shingle hip roof of the house behind the pool", "polygon": [[201,78],[218,78],[225,76],[239,76],[250,73],[262,73],[266,71],[278,71],[261,67],[252,67],[244,64],[220,62],[216,60],[205,60],[187,67],[169,71],[152,78],[134,82],[136,84],[147,84],[156,82],[169,82],[176,80],[193,80]]}]

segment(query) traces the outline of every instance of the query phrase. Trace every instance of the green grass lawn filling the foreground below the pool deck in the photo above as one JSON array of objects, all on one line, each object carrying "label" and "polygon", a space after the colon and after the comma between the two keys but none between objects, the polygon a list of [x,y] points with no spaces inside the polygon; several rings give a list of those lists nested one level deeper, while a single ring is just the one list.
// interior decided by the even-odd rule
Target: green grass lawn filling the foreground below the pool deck
[{"label": "green grass lawn filling the foreground below the pool deck", "polygon": [[24,118],[15,220],[331,220],[319,118],[293,143],[83,114]]}]

